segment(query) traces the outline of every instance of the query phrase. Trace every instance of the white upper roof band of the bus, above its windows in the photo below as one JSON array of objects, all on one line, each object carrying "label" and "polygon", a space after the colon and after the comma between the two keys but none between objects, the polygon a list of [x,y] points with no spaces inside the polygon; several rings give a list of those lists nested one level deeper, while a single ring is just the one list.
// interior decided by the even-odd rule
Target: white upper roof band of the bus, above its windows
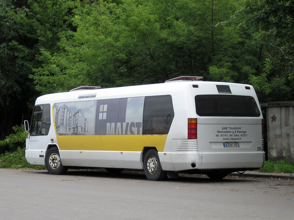
[{"label": "white upper roof band of the bus, above its windows", "polygon": [[[75,90],[71,90],[71,92],[46,94],[37,98],[36,105],[44,104],[44,103],[57,103],[60,101],[70,102],[70,101],[77,101],[77,100],[88,100],[91,98],[92,99],[114,99],[114,98],[124,98],[124,97],[183,94],[183,91],[190,90],[190,88],[191,90],[195,89],[194,91],[197,91],[196,92],[197,94],[218,94],[220,92],[218,92],[216,85],[229,86],[232,91],[231,94],[256,96],[253,87],[248,84],[238,84],[238,83],[229,83],[229,82],[209,82],[209,81],[199,81],[199,80],[191,81],[190,79],[188,80],[181,79],[181,80],[172,80],[166,83],[158,83],[158,84],[145,84],[145,85],[113,87],[113,88],[103,88],[103,89],[96,89],[95,87],[87,87],[88,89],[75,89]],[[245,89],[245,87],[247,87],[247,89]]]}]

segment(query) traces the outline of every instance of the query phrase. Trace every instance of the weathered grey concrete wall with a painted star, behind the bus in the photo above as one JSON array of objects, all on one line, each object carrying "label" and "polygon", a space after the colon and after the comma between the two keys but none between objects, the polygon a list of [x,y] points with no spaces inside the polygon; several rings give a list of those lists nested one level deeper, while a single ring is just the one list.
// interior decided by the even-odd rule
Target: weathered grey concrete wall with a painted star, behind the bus
[{"label": "weathered grey concrete wall with a painted star, behind the bus", "polygon": [[268,159],[294,161],[294,101],[263,103],[266,107]]}]

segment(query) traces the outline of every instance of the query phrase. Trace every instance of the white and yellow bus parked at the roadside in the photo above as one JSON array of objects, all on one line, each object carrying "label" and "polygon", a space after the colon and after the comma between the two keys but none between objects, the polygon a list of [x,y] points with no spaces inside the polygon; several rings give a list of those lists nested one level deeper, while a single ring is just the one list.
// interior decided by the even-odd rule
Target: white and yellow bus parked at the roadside
[{"label": "white and yellow bus parked at the roadside", "polygon": [[182,76],[128,87],[78,87],[36,99],[26,160],[51,174],[69,167],[142,169],[149,180],[178,172],[263,167],[263,116],[251,85]]}]

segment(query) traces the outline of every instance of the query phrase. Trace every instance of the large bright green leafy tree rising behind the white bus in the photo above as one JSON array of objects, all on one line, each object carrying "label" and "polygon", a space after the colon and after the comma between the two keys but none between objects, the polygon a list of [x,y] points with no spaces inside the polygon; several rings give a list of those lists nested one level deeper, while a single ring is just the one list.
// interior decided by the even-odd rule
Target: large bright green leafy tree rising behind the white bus
[{"label": "large bright green leafy tree rising behind the white bus", "polygon": [[62,33],[59,41],[64,51],[42,50],[43,65],[33,76],[37,89],[46,93],[81,83],[112,87],[209,76],[213,57],[232,39],[229,33],[222,37],[216,24],[237,9],[233,1],[208,0],[81,3],[71,20],[76,32]]}]

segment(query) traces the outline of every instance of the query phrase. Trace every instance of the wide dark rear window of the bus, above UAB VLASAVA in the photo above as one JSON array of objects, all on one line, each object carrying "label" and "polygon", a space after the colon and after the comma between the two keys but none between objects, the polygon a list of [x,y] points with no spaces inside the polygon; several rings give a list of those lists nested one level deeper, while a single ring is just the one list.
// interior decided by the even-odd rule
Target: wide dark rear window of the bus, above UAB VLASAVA
[{"label": "wide dark rear window of the bus, above UAB VLASAVA", "polygon": [[196,113],[199,116],[260,116],[260,111],[252,96],[197,95],[195,104]]}]

